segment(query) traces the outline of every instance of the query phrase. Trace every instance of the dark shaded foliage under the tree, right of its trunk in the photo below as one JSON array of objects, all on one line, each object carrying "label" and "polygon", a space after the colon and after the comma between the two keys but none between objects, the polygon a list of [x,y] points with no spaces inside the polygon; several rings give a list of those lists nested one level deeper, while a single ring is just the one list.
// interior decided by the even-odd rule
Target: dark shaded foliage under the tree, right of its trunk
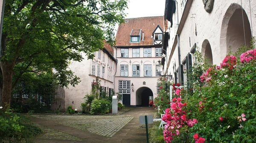
[{"label": "dark shaded foliage under the tree, right of its trunk", "polygon": [[[56,88],[57,82],[51,72],[25,73],[12,92],[14,96],[11,100],[11,108],[15,109],[15,112],[22,113],[27,113],[29,110],[34,110],[36,113],[50,110]],[[26,100],[22,98],[25,94],[28,95]]]}]

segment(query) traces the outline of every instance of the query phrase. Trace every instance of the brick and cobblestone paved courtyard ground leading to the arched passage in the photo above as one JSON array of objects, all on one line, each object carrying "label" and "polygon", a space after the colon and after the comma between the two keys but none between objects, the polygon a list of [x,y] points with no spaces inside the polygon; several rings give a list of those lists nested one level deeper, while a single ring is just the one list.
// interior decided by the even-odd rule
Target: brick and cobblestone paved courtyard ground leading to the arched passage
[{"label": "brick and cobblestone paved courtyard ground leading to the arched passage", "polygon": [[36,143],[145,143],[139,116],[153,115],[152,107],[136,107],[121,115],[33,115],[44,130]]}]

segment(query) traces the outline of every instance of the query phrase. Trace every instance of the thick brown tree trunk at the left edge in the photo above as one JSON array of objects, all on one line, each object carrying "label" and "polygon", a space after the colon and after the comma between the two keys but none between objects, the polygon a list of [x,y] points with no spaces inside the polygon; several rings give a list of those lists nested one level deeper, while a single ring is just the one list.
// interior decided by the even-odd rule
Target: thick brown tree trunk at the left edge
[{"label": "thick brown tree trunk at the left edge", "polygon": [[15,72],[13,71],[14,62],[0,61],[1,70],[3,73],[3,89],[2,89],[2,102],[1,106],[4,109],[10,108],[11,94],[12,94],[12,77]]}]

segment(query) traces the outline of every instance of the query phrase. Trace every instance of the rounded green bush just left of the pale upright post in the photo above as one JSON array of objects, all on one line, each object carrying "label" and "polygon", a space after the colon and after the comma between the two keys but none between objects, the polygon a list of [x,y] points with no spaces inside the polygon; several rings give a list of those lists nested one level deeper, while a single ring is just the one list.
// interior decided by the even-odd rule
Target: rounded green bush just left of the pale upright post
[{"label": "rounded green bush just left of the pale upright post", "polygon": [[105,99],[94,99],[91,104],[90,114],[105,114],[109,112],[109,104],[111,104],[108,100]]}]

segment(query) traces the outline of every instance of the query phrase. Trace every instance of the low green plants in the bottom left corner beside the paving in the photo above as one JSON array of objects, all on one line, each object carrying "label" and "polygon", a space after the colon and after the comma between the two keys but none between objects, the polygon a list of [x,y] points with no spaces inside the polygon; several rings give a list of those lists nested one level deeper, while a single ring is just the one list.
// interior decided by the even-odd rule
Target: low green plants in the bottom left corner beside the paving
[{"label": "low green plants in the bottom left corner beside the paving", "polygon": [[34,137],[41,134],[42,130],[29,123],[29,119],[20,114],[12,113],[7,109],[0,109],[0,143],[9,140],[9,143],[26,140],[26,137]]}]

